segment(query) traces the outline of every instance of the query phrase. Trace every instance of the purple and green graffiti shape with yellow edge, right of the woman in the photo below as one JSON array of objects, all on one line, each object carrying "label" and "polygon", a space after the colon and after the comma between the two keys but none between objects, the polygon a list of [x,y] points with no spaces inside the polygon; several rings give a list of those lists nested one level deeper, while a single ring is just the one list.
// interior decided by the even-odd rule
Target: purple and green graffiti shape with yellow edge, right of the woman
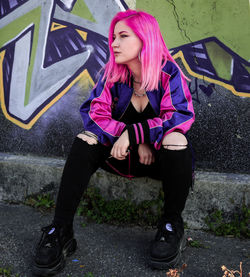
[{"label": "purple and green graffiti shape with yellow edge, right of the woman", "polygon": [[[209,50],[210,49],[210,50]],[[250,63],[230,50],[217,38],[211,37],[172,49],[174,58],[181,58],[185,68],[192,76],[218,84],[237,96],[250,97]],[[220,71],[216,57],[218,53],[227,66],[226,72]],[[221,62],[221,61],[220,61]],[[200,87],[209,96],[212,91]],[[205,92],[204,91],[204,92]]]}]

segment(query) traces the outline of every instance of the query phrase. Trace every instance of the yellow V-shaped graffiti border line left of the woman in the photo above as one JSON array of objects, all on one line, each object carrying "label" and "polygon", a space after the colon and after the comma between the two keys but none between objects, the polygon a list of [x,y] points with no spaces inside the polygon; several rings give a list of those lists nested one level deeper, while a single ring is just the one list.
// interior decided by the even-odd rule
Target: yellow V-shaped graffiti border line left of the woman
[{"label": "yellow V-shaped graffiti border line left of the woman", "polygon": [[32,126],[36,123],[36,121],[52,106],[54,105],[68,90],[78,81],[84,79],[88,80],[88,82],[94,86],[94,81],[91,78],[87,69],[84,69],[82,73],[80,73],[64,90],[62,90],[50,103],[48,103],[29,123],[25,124],[17,120],[16,118],[12,117],[5,106],[5,99],[4,99],[4,85],[3,85],[3,60],[4,60],[5,50],[0,52],[0,102],[3,114],[5,117],[13,122],[14,124],[18,125],[19,127],[29,130]]}]

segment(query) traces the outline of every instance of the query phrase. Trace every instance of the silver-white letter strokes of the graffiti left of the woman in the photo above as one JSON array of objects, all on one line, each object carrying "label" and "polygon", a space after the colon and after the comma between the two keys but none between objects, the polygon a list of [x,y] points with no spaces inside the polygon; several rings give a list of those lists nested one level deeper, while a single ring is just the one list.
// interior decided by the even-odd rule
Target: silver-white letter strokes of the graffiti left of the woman
[{"label": "silver-white letter strokes of the graffiti left of the woman", "polygon": [[[114,2],[112,0],[105,1],[103,5],[107,6],[107,2],[110,2],[110,7],[112,7],[112,11],[109,10],[111,19],[114,15],[114,12],[116,13],[119,11],[119,9],[118,7],[114,6]],[[64,1],[64,4],[68,4],[67,7],[70,7],[72,3],[72,0],[66,2]],[[84,26],[85,28],[91,29],[95,32],[99,31],[98,33],[102,34],[106,33],[108,30],[109,24],[107,24],[107,17],[105,12],[102,14],[96,12],[97,5],[99,5],[99,8],[102,8],[102,11],[105,10],[103,7],[100,7],[100,1],[86,0],[85,4],[90,9],[90,12],[92,13],[96,22],[90,22],[65,12],[57,5],[55,6],[55,0],[30,0],[0,20],[0,28],[3,28],[4,26],[10,24],[13,21],[13,18],[16,20],[20,16],[27,14],[29,11],[32,11],[37,7],[41,7],[40,26],[34,26],[34,28],[39,27],[39,36],[37,41],[37,49],[35,49],[34,54],[35,58],[31,73],[30,89],[27,92],[27,73],[30,66],[30,51],[32,45],[31,31],[27,32],[27,29],[32,26],[32,24],[29,23],[29,26],[26,26],[22,32],[16,36],[15,58],[13,61],[13,71],[11,76],[12,81],[10,86],[10,97],[9,103],[7,103],[8,109],[3,109],[3,111],[5,110],[5,112],[7,111],[8,113],[8,115],[5,114],[5,116],[20,127],[25,129],[30,129],[32,127],[35,121],[42,115],[42,113],[39,113],[39,117],[37,117],[35,121],[33,120],[39,107],[41,107],[43,103],[45,103],[51,97],[53,98],[53,95],[63,88],[69,79],[72,79],[72,77],[77,78],[77,76],[75,76],[76,72],[79,71],[79,68],[84,65],[90,54],[93,52],[93,47],[89,45],[87,46],[86,52],[74,55],[44,68],[43,64],[46,43],[52,19],[60,18],[61,20],[73,23],[76,26]],[[116,4],[119,7],[122,5],[120,1],[116,1]],[[105,14],[105,16],[103,14]],[[11,41],[6,42],[4,46],[7,47],[8,44],[14,40],[15,38],[12,38]],[[23,49],[25,49],[25,51],[23,51]],[[20,56],[22,58],[20,58]],[[66,93],[66,91],[64,89],[64,93]],[[24,103],[25,96],[27,98],[27,93],[29,93],[29,98],[28,101],[26,101],[27,103]],[[2,94],[4,95],[3,91]],[[3,99],[1,99],[1,102],[2,101]],[[1,105],[3,107],[3,103],[1,103]],[[45,111],[46,109],[44,108],[44,112]],[[30,122],[32,123],[30,124]]]}]

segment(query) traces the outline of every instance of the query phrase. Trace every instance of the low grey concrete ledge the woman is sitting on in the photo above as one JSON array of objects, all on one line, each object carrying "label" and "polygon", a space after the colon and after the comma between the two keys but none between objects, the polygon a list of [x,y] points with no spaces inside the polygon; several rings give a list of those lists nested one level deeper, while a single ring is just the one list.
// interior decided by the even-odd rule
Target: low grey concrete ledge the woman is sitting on
[{"label": "low grey concrete ledge the woman is sitting on", "polygon": [[[0,202],[23,202],[28,196],[49,193],[56,199],[65,160],[0,153]],[[215,210],[234,218],[242,206],[250,205],[250,175],[196,172],[194,190],[189,193],[184,221],[190,228],[207,228],[204,218]],[[128,199],[135,203],[156,200],[161,182],[148,177],[126,178],[97,170],[89,186],[99,188],[107,199]],[[156,207],[152,210],[157,214]]]}]

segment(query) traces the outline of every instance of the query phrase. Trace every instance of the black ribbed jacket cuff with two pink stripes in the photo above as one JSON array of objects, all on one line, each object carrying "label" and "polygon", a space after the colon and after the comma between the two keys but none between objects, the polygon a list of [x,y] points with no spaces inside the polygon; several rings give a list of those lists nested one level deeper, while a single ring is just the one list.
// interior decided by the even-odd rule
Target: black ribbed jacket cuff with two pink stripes
[{"label": "black ribbed jacket cuff with two pink stripes", "polygon": [[130,146],[150,143],[149,126],[147,121],[127,125]]}]

